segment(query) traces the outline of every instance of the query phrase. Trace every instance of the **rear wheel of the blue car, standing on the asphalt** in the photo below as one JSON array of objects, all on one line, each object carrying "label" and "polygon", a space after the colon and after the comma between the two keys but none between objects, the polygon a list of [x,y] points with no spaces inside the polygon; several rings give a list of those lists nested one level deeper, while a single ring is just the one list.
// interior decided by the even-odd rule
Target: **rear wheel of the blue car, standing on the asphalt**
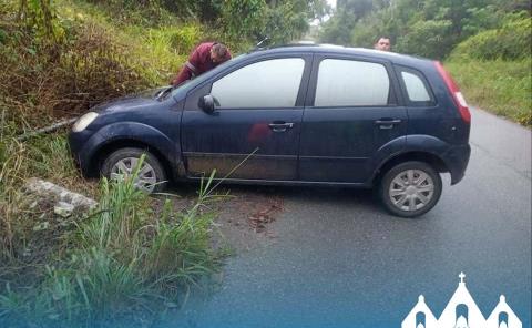
[{"label": "rear wheel of the blue car, standing on the asphalt", "polygon": [[386,172],[379,195],[391,214],[417,217],[429,212],[441,196],[440,174],[424,162],[403,162]]}]

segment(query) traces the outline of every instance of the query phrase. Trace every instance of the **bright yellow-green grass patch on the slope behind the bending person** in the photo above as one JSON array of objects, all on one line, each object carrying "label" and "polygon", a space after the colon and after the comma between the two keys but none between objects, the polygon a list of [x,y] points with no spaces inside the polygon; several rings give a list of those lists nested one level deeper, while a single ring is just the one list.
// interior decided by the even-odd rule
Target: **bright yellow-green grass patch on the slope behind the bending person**
[{"label": "bright yellow-green grass patch on the slope behind the bending person", "polygon": [[[152,86],[164,85],[186,61],[200,41],[208,39],[206,28],[194,20],[183,20],[158,9],[123,10],[101,2],[61,0],[61,18],[96,24],[111,32],[113,41],[123,44],[134,70]],[[152,14],[152,17],[150,17]]]}]

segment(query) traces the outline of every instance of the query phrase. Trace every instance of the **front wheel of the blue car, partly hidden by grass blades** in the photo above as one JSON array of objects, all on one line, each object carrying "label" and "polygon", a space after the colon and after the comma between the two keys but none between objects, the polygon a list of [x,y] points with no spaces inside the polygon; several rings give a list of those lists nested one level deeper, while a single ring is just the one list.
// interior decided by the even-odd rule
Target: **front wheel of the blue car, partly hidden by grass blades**
[{"label": "front wheel of the blue car, partly hidden by grass blades", "polygon": [[139,178],[135,185],[147,193],[157,193],[164,189],[167,181],[161,162],[152,153],[142,148],[126,147],[109,154],[100,166],[100,173],[109,180],[117,178],[125,171],[131,173],[141,156],[145,154]]}]

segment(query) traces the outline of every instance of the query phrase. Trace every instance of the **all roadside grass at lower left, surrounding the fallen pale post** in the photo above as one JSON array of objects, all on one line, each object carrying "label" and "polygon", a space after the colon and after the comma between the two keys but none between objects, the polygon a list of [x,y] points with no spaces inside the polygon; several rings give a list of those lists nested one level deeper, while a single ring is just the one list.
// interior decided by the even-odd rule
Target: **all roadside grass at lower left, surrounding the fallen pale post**
[{"label": "all roadside grass at lower left, surrounding the fallen pale post", "polygon": [[[211,181],[175,212],[133,178],[98,188],[79,177],[64,135],[0,140],[0,324],[2,327],[142,327],[193,288],[208,288],[225,249],[212,247]],[[28,176],[99,197],[90,214],[63,218],[23,193]]]}]

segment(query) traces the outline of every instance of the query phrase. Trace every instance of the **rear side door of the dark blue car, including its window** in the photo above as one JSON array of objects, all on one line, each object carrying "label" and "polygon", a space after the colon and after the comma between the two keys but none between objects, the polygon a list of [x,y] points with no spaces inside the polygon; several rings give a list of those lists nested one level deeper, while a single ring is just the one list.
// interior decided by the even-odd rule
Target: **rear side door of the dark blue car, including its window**
[{"label": "rear side door of the dark blue car, including its window", "polygon": [[301,181],[367,183],[372,158],[405,146],[407,111],[386,61],[316,54],[303,119]]}]

